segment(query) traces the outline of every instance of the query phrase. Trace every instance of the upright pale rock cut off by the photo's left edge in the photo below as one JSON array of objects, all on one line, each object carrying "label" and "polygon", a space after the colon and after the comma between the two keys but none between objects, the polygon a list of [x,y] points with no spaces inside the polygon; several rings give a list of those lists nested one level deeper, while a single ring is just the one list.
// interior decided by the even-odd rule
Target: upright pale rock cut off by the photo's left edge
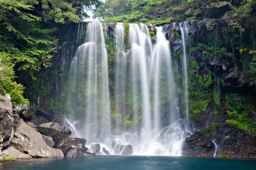
[{"label": "upright pale rock cut off by the photo's left edge", "polygon": [[0,101],[0,143],[4,141],[3,145],[8,145],[13,138],[12,101],[10,94],[0,95],[0,98],[6,100]]}]

